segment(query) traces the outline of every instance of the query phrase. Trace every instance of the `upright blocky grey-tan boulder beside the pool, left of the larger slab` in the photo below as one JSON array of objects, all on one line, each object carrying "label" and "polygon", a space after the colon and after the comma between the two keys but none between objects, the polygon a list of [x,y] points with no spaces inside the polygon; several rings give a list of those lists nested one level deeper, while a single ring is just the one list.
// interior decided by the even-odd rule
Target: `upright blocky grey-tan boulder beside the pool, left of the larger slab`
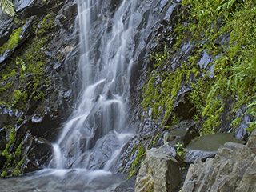
[{"label": "upright blocky grey-tan boulder beside the pool, left of the larger slab", "polygon": [[159,149],[148,150],[136,178],[135,192],[174,191],[182,180],[175,155],[174,147],[168,143]]}]

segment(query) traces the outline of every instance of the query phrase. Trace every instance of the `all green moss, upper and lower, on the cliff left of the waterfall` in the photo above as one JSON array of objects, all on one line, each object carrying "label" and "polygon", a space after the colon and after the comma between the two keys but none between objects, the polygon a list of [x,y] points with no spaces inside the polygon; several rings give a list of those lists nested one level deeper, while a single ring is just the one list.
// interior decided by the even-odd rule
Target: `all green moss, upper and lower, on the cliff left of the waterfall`
[{"label": "all green moss, upper and lower, on the cliff left of the waterfall", "polygon": [[[46,75],[46,47],[53,38],[51,31],[54,29],[54,14],[46,15],[41,21],[34,18],[34,30],[31,31],[30,38],[27,38],[18,49],[15,48],[21,41],[24,22],[17,17],[15,21],[19,27],[13,30],[10,39],[0,47],[0,54],[14,50],[12,57],[8,58],[8,61],[6,59],[6,66],[2,68],[0,74],[0,104],[6,105],[14,112],[26,111],[28,102],[40,102],[46,97],[46,87],[50,82]],[[16,124],[19,125],[20,122],[22,119],[18,119]],[[22,142],[18,143],[16,139],[14,124],[13,122],[10,126],[4,127],[6,133],[10,134],[5,150],[0,151],[6,157],[2,178],[6,175],[20,175],[25,168],[23,162],[26,155],[22,154]]]}]

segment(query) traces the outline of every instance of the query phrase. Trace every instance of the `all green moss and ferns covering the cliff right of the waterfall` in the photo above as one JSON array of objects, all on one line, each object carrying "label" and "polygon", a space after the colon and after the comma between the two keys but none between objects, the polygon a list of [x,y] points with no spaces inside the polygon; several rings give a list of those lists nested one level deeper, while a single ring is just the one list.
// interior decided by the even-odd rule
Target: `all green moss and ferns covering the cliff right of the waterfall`
[{"label": "all green moss and ferns covering the cliff right of the waterfall", "polygon": [[[190,102],[198,112],[195,118],[202,120],[201,134],[218,131],[227,101],[233,103],[233,127],[238,126],[243,114],[256,117],[256,2],[183,0],[182,6],[185,10],[174,34],[170,34],[174,35],[174,46],[150,57],[154,70],[144,93],[143,109],[151,109],[154,120],[165,114],[161,119],[165,122],[177,90],[182,83],[188,83],[192,87]],[[164,72],[170,68],[168,64],[175,51],[188,41],[196,47],[188,61]],[[198,62],[205,50],[214,61],[200,69]],[[189,71],[194,74],[193,82],[188,82]],[[246,110],[237,115],[242,106]],[[251,122],[247,130],[252,132],[255,125],[256,122]]]}]

